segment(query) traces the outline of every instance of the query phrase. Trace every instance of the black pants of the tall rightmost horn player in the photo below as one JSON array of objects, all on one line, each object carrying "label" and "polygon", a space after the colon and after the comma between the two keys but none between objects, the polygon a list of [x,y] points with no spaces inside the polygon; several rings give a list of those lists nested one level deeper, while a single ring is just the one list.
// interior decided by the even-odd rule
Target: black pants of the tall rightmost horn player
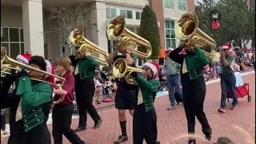
[{"label": "black pants of the tall rightmost horn player", "polygon": [[189,134],[194,134],[195,117],[202,125],[202,132],[207,134],[210,130],[203,103],[206,97],[206,82],[203,77],[189,80],[182,78],[183,103]]}]

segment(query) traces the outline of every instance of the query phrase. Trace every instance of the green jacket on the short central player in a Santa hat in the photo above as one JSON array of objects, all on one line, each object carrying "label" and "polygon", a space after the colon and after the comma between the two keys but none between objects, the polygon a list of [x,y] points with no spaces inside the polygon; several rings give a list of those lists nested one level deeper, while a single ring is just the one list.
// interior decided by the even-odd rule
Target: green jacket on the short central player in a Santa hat
[{"label": "green jacket on the short central player in a Santa hat", "polygon": [[135,81],[138,83],[140,90],[142,90],[143,104],[146,112],[154,107],[153,94],[156,94],[160,86],[160,82],[154,78],[146,80],[142,76],[137,76]]}]

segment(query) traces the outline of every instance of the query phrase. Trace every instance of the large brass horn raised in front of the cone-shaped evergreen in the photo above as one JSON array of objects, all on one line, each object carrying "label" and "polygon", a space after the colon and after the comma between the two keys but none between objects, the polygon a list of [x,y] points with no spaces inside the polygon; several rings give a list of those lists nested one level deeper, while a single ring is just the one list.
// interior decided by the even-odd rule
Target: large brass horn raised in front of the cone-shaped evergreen
[{"label": "large brass horn raised in front of the cone-shaped evergreen", "polygon": [[[132,46],[130,52],[138,55],[139,58],[148,58],[152,53],[150,42],[128,30],[125,18],[122,18],[122,16],[113,18],[109,22],[106,26],[106,37],[109,40],[119,40],[118,46],[120,47]],[[144,46],[146,52],[137,50],[137,46]]]}]

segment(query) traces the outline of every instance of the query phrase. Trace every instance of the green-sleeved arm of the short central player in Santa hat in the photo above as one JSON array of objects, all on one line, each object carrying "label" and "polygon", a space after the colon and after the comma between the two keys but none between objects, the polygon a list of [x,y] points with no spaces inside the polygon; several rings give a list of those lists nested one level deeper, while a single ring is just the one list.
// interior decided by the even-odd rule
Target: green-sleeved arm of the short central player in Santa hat
[{"label": "green-sleeved arm of the short central player in Santa hat", "polygon": [[155,80],[154,82],[148,82],[145,78],[142,78],[142,76],[138,74],[133,74],[135,81],[138,83],[138,86],[142,90],[149,90],[151,92],[158,91],[158,88],[160,86],[160,82],[158,80]]}]

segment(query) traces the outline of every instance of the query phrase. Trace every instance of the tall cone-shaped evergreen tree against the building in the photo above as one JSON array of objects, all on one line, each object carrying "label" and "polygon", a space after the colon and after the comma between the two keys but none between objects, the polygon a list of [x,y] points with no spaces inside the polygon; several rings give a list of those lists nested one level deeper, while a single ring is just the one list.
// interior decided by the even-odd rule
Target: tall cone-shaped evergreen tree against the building
[{"label": "tall cone-shaped evergreen tree against the building", "polygon": [[[160,48],[158,20],[156,15],[154,14],[154,10],[152,10],[151,7],[147,5],[142,10],[139,35],[142,38],[148,40],[152,46],[152,54],[150,56],[150,59],[158,59]],[[143,46],[140,47],[140,49],[143,51]]]}]

